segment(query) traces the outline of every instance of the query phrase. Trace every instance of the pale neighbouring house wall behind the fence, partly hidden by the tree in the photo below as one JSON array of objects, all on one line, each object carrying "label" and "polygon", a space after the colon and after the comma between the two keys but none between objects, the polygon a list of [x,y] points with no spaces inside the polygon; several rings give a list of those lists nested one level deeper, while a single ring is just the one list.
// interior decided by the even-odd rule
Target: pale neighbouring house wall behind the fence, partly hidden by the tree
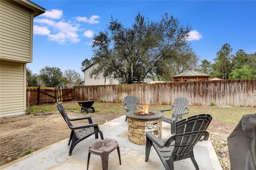
[{"label": "pale neighbouring house wall behind the fence, partly hidden by the tree", "polygon": [[103,76],[99,77],[99,79],[94,79],[90,78],[90,73],[92,69],[96,67],[95,65],[91,65],[87,69],[84,70],[84,85],[116,85],[120,84],[118,80],[110,78],[110,79],[105,79]]}]

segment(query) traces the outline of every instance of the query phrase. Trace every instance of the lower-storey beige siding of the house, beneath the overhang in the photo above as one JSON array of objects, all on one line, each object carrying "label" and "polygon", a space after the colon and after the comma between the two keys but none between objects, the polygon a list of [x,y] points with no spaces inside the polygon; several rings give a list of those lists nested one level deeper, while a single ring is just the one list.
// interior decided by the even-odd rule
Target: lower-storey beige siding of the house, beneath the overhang
[{"label": "lower-storey beige siding of the house, beneath the overhang", "polygon": [[0,63],[0,117],[6,113],[24,113],[26,110],[26,64]]}]

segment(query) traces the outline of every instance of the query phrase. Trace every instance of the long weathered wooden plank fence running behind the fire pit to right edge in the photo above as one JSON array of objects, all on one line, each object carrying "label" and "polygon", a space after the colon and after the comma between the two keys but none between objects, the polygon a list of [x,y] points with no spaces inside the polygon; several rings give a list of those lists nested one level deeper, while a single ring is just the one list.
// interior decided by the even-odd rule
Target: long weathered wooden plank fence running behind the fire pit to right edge
[{"label": "long weathered wooden plank fence running behind the fire pit to right edge", "polygon": [[256,79],[74,87],[74,100],[78,101],[124,103],[127,95],[135,95],[139,103],[151,105],[172,105],[175,98],[186,97],[188,105],[256,107]]}]

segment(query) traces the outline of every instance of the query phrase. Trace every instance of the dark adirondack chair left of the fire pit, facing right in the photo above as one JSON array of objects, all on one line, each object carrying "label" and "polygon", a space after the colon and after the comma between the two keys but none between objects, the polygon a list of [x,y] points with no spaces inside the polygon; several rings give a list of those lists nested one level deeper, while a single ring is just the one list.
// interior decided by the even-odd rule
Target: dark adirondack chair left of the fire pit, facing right
[{"label": "dark adirondack chair left of the fire pit, facing right", "polygon": [[[98,124],[93,123],[91,117],[81,117],[81,118],[76,118],[76,119],[69,119],[63,106],[59,103],[55,103],[55,104],[56,104],[58,110],[60,111],[60,114],[62,115],[63,119],[68,124],[68,127],[71,129],[71,134],[70,134],[70,138],[68,141],[68,145],[70,145],[71,140],[72,140],[72,142],[71,142],[71,146],[70,146],[68,155],[72,154],[72,150],[74,149],[76,144],[78,144],[85,138],[92,136],[93,134],[95,134],[95,138],[98,138],[98,133],[100,133],[100,138],[104,139],[103,134],[98,127]],[[84,119],[87,119],[89,121],[88,125],[73,126],[72,123],[70,122],[70,121],[79,121],[79,120],[84,120]],[[76,130],[78,130],[78,131],[76,131]]]}]

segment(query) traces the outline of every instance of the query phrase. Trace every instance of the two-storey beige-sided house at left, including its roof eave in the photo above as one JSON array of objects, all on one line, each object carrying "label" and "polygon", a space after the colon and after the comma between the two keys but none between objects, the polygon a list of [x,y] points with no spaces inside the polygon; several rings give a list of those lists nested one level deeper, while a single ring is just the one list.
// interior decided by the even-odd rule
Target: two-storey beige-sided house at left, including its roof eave
[{"label": "two-storey beige-sided house at left, including its roof eave", "polygon": [[25,114],[33,18],[44,12],[28,0],[0,0],[0,117]]}]

